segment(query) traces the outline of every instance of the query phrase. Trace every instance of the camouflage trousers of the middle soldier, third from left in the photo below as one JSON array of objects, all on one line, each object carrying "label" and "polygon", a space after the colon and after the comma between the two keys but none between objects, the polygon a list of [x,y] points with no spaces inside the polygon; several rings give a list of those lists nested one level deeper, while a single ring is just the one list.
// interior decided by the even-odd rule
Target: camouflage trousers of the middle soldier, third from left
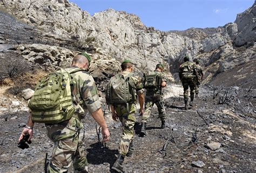
[{"label": "camouflage trousers of the middle soldier, third from left", "polygon": [[151,96],[145,97],[145,111],[142,116],[142,122],[147,123],[147,119],[150,118],[151,109],[154,106],[154,104],[157,105],[159,118],[161,121],[165,120],[165,109],[164,109],[164,103],[161,101],[161,99],[154,99]]}]

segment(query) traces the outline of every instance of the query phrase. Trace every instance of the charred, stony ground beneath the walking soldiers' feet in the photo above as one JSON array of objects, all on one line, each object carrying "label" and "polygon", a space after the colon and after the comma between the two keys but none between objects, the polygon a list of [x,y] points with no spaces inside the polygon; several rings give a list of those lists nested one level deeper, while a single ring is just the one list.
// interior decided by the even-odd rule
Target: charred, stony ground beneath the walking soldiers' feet
[{"label": "charred, stony ground beneath the walking soldiers' feet", "polygon": [[[255,172],[256,91],[204,86],[200,88],[199,98],[194,101],[196,106],[185,111],[183,97],[179,96],[182,93],[180,89],[173,85],[165,91],[168,97],[174,94],[165,99],[169,128],[159,128],[160,120],[154,107],[147,123],[147,135],[140,137],[140,117],[137,114],[136,149],[132,157],[125,158],[126,171]],[[8,105],[8,100],[2,101],[3,105]],[[106,143],[106,148],[98,143],[96,122],[92,117],[86,116],[83,120],[90,172],[110,172],[118,154],[122,133],[120,122],[112,121],[107,110],[105,117],[111,132],[111,141]],[[22,150],[17,147],[18,136],[27,118],[28,112],[24,111],[0,114],[1,172],[44,171],[45,153],[51,153],[53,143],[46,137],[43,124],[36,124],[30,148]],[[209,142],[219,142],[221,146],[211,150],[206,147]],[[192,164],[193,161],[204,164],[199,164],[199,168]]]}]

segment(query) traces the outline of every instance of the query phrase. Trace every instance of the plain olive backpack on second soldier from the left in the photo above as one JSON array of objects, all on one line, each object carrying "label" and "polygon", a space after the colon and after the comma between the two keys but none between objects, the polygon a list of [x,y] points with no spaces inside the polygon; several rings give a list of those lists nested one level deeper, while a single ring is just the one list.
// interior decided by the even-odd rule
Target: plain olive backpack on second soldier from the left
[{"label": "plain olive backpack on second soldier from the left", "polygon": [[116,105],[136,102],[134,87],[130,83],[132,75],[133,73],[130,73],[124,77],[121,74],[117,74],[110,78],[105,92],[107,104]]}]

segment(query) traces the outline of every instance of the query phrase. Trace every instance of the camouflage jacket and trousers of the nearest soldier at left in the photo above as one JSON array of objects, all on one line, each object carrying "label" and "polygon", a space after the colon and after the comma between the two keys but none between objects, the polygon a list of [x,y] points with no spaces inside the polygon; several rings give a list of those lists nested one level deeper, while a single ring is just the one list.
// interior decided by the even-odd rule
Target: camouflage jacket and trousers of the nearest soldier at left
[{"label": "camouflage jacket and trousers of the nearest soldier at left", "polygon": [[78,106],[74,116],[68,121],[46,124],[48,136],[55,143],[49,172],[68,171],[72,161],[75,172],[86,169],[87,160],[83,142],[85,129],[80,119],[85,115],[84,109],[92,113],[101,107],[92,76],[86,71],[78,71],[71,76],[76,83],[76,87],[71,88],[73,102],[83,107]]}]

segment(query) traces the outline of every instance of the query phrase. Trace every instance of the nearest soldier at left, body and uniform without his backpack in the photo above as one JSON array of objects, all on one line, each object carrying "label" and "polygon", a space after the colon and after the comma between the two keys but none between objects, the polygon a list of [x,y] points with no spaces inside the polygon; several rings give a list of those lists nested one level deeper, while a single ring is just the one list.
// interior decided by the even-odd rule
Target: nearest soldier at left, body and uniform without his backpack
[{"label": "nearest soldier at left, body and uniform without his backpack", "polygon": [[[110,133],[104,120],[95,81],[91,74],[86,72],[90,66],[90,60],[90,56],[85,53],[78,54],[73,58],[71,68],[82,68],[84,70],[71,74],[72,80],[77,84],[72,91],[74,96],[72,100],[74,104],[80,103],[80,111],[84,113],[86,109],[92,114],[92,117],[102,127],[103,140],[108,141]],[[49,172],[68,172],[72,161],[74,172],[88,171],[83,141],[85,129],[81,118],[84,117],[75,112],[70,120],[60,122],[59,124],[45,124],[48,137],[55,143]],[[28,123],[23,128],[19,141],[21,141],[26,133],[30,135],[29,140],[32,138],[34,123],[30,114]]]}]

